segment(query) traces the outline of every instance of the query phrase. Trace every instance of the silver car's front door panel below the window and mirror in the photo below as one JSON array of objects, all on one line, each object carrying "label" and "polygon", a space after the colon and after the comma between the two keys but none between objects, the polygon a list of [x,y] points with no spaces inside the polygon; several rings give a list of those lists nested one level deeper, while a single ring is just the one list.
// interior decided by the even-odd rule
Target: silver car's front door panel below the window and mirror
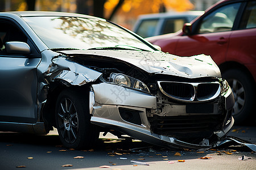
[{"label": "silver car's front door panel below the window and mirror", "polygon": [[37,116],[36,67],[40,58],[0,56],[0,120],[35,123]]}]

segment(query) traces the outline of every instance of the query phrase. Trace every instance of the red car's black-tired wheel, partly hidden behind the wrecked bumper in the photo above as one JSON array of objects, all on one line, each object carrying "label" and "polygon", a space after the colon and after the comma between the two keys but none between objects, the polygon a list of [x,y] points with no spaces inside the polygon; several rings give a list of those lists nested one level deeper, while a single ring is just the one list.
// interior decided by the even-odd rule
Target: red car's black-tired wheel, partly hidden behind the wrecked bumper
[{"label": "red car's black-tired wheel, partly hidden behind the wrecked bumper", "polygon": [[[232,110],[235,124],[243,124],[253,116],[254,109],[254,82],[242,70],[230,69],[222,74],[232,88],[235,104]],[[251,117],[252,118],[252,117]]]}]

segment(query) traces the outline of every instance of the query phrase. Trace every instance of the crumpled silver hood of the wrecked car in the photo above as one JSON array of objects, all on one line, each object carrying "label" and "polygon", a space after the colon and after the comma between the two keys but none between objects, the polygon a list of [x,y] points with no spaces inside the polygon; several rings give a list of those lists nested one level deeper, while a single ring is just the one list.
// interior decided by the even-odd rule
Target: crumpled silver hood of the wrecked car
[{"label": "crumpled silver hood of the wrecked car", "polygon": [[76,54],[93,55],[119,59],[148,73],[199,78],[212,76],[221,78],[220,69],[210,56],[200,54],[192,57],[179,57],[163,52],[142,52],[135,50],[65,50],[63,54],[75,57]]}]

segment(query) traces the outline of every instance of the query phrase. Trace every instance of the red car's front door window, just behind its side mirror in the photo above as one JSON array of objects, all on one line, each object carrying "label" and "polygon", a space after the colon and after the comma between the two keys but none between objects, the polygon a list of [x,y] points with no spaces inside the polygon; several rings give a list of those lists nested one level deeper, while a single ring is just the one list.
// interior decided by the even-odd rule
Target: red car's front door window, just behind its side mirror
[{"label": "red car's front door window, just behind its side mirror", "polygon": [[206,16],[199,27],[199,33],[231,31],[241,3],[222,6]]}]

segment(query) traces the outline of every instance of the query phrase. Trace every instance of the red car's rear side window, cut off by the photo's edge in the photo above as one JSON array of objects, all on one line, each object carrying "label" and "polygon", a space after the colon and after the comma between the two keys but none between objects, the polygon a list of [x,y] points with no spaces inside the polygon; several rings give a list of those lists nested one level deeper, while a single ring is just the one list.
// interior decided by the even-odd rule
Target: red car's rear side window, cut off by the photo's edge
[{"label": "red car's rear side window, cut off by the photo's edge", "polygon": [[256,2],[255,1],[250,1],[247,3],[239,28],[241,29],[256,28]]}]

